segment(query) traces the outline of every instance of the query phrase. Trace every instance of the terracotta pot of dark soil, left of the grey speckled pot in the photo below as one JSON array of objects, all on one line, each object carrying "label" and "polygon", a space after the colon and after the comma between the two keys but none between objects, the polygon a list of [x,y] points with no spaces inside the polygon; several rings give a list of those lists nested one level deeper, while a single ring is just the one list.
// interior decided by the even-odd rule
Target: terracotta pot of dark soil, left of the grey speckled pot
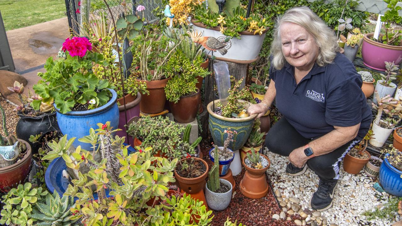
[{"label": "terracotta pot of dark soil, left of the grey speckled pot", "polygon": [[[186,158],[181,159],[180,161],[185,160]],[[208,176],[208,164],[201,158],[195,158],[196,160],[201,160],[201,162],[207,167],[205,170],[205,173],[203,175],[196,177],[196,178],[185,178],[185,177],[180,177],[178,173],[176,172],[176,169],[174,169],[174,177],[180,184],[181,190],[183,190],[186,193],[189,194],[194,194],[199,191],[202,191],[203,185],[205,184],[205,178]]]}]

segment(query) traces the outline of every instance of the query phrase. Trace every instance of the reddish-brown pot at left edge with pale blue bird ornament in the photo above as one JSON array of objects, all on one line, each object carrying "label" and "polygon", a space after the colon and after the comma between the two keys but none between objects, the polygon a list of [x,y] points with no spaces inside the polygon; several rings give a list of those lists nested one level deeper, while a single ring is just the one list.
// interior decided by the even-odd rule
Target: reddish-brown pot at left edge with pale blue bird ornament
[{"label": "reddish-brown pot at left edge with pale blue bird ornament", "polygon": [[27,145],[27,153],[21,160],[11,166],[0,168],[0,191],[4,193],[17,187],[18,184],[24,183],[31,169],[31,146],[25,140],[17,140]]}]

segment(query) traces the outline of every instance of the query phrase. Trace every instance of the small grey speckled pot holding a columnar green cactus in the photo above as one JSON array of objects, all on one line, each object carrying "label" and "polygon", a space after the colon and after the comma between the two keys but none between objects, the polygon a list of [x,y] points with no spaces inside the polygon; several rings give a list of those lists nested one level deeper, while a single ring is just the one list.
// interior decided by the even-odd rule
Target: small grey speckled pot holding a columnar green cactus
[{"label": "small grey speckled pot holding a columnar green cactus", "polygon": [[225,193],[215,193],[208,189],[205,185],[205,199],[207,200],[207,204],[209,208],[212,210],[225,210],[228,208],[230,201],[232,200],[232,184],[229,181],[224,179],[219,179],[221,183],[228,185],[230,190]]}]

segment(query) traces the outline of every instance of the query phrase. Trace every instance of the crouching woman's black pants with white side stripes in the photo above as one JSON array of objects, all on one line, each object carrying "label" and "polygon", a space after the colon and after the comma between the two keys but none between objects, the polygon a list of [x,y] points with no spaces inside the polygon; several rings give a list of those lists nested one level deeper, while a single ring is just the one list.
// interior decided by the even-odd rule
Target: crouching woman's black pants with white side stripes
[{"label": "crouching woman's black pants with white side stripes", "polygon": [[[301,134],[289,124],[285,117],[282,117],[269,130],[265,138],[265,146],[267,146],[269,151],[275,154],[289,156],[293,150],[308,144],[312,140],[314,139],[301,136]],[[307,160],[307,166],[314,171],[320,179],[339,179],[340,162],[347,152],[358,143],[359,140],[354,139],[330,153],[310,158]]]}]

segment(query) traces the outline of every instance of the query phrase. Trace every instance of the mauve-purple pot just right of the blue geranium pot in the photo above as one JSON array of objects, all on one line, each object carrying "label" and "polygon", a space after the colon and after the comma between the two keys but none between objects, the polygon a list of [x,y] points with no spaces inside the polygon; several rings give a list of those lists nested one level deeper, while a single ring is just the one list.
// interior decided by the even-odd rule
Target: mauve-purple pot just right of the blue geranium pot
[{"label": "mauve-purple pot just right of the blue geranium pot", "polygon": [[[141,94],[137,92],[137,98],[135,98],[134,101],[127,103],[126,104],[126,111],[127,111],[127,122],[130,121],[133,117],[139,117],[139,102],[141,101]],[[126,137],[125,138],[125,143],[129,145],[134,145],[134,140],[133,137],[129,137],[127,140],[127,134],[126,134],[126,128],[124,127],[126,125],[125,121],[125,113],[124,113],[124,105],[119,106],[119,129],[121,131],[117,131],[116,135],[119,137]]]}]

